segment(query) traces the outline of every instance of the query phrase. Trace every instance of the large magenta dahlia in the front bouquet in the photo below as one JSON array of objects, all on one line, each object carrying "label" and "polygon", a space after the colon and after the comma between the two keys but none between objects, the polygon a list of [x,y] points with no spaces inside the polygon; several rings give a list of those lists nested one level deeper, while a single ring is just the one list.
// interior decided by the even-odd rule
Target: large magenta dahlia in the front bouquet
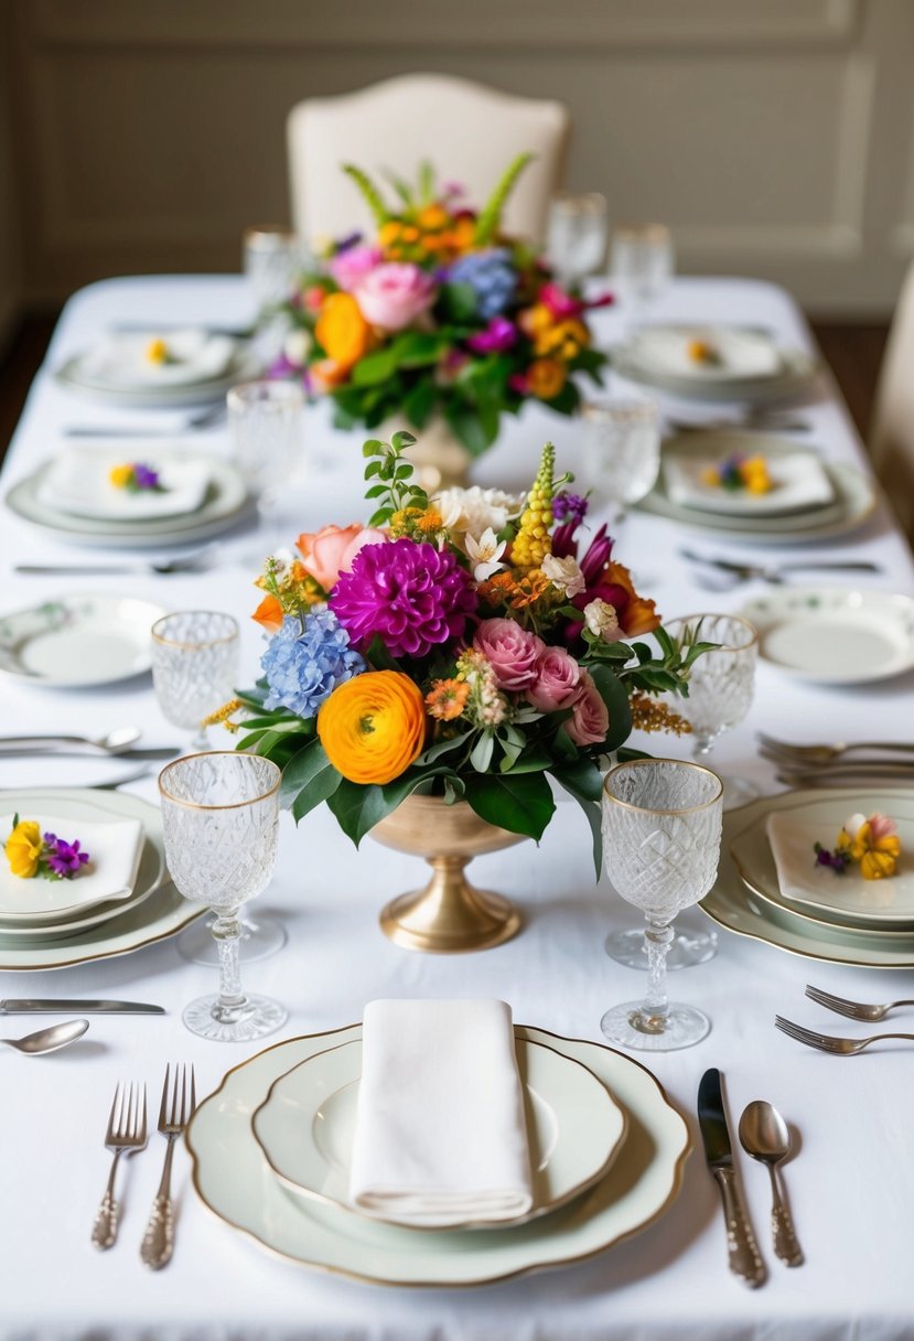
[{"label": "large magenta dahlia in the front bouquet", "polygon": [[423,657],[464,633],[476,610],[476,589],[449,550],[413,540],[365,544],[340,573],[330,606],[365,650],[379,634],[395,657]]}]

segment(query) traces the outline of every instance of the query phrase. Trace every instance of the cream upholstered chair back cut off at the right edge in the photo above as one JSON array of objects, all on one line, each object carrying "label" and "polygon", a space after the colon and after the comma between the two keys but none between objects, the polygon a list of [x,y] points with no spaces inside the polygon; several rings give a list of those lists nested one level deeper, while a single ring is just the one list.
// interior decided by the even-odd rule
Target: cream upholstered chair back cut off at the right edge
[{"label": "cream upholstered chair back cut off at the right edge", "polygon": [[914,544],[914,263],[902,284],[876,388],[870,453]]}]

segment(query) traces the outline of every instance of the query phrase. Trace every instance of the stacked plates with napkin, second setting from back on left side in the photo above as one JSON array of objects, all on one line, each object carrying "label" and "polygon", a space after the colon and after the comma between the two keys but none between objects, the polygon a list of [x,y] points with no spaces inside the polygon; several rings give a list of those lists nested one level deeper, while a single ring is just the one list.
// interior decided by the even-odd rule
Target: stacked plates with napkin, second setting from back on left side
[{"label": "stacked plates with napkin, second setting from back on left side", "polygon": [[[142,464],[154,489],[118,488],[111,471]],[[58,540],[107,548],[185,544],[232,526],[248,506],[237,467],[186,443],[134,439],[70,448],[7,493],[7,507]]]}]

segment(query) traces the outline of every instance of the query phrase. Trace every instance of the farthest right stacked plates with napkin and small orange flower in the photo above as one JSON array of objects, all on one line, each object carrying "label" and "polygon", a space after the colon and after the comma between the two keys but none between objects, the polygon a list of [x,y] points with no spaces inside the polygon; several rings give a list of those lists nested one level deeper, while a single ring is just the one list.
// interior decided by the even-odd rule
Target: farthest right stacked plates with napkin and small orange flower
[{"label": "farthest right stacked plates with napkin and small orange flower", "polygon": [[646,326],[614,351],[612,366],[671,396],[742,404],[787,400],[818,371],[812,355],[746,326]]}]

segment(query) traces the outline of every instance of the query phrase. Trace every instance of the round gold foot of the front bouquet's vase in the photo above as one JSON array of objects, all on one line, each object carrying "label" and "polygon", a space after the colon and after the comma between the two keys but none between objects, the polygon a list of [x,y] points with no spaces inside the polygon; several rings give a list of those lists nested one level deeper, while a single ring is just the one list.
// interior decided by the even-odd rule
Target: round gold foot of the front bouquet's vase
[{"label": "round gold foot of the front bouquet's vase", "polygon": [[402,949],[466,955],[503,945],[521,928],[520,911],[501,894],[464,884],[461,897],[442,905],[429,889],[399,894],[381,911],[381,929]]}]

